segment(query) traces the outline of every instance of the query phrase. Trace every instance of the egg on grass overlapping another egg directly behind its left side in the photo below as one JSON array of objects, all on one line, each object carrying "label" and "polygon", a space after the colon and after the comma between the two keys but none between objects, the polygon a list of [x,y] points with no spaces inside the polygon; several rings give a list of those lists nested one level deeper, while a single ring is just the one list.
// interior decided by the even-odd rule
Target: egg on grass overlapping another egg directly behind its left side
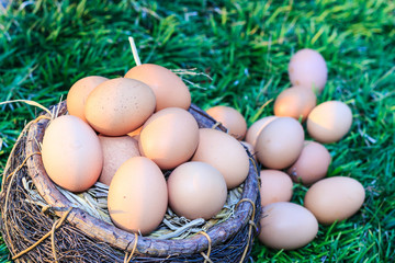
[{"label": "egg on grass overlapping another egg directly behind its left side", "polygon": [[279,117],[260,133],[255,150],[261,164],[270,169],[285,169],[302,152],[304,130],[292,117]]}]

